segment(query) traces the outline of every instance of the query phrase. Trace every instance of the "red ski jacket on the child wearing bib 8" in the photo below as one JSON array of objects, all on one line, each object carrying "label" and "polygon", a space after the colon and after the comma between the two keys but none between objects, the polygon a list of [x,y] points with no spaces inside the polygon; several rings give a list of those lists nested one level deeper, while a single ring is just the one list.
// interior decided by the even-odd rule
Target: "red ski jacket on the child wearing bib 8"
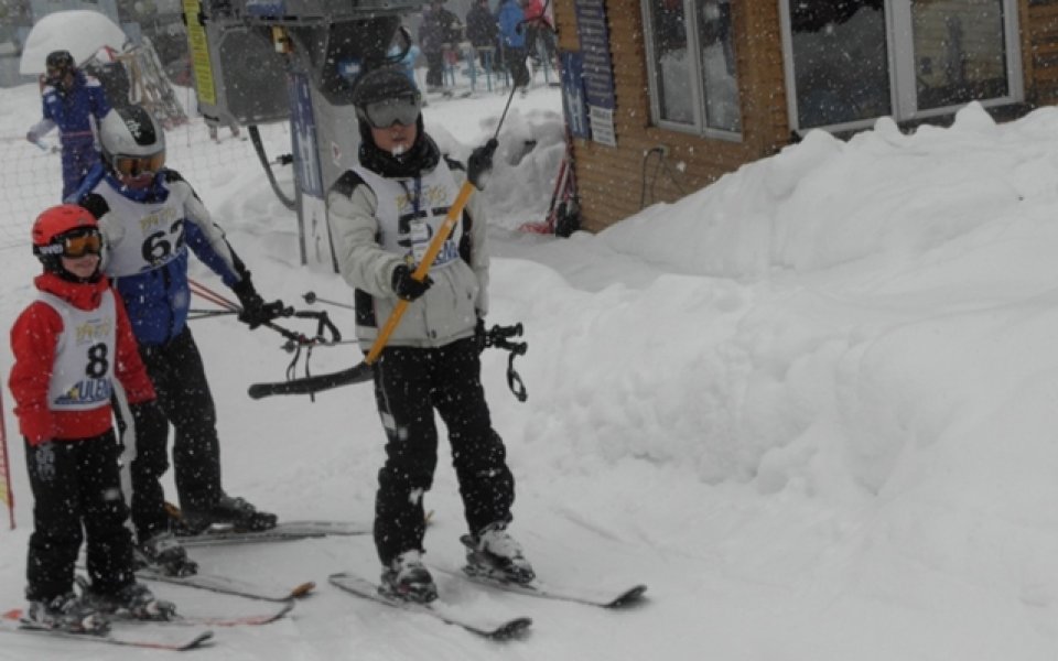
[{"label": "red ski jacket on the child wearing bib 8", "polygon": [[[78,310],[95,310],[110,284],[106,278],[90,284],[63,280],[54,273],[44,273],[33,280],[36,289],[67,301]],[[114,376],[121,383],[130,404],[155,398],[154,387],[147,375],[132,335],[121,296],[115,295],[117,328],[115,343],[117,360]],[[14,366],[8,386],[14,395],[14,414],[19,429],[31,445],[47,441],[72,441],[98,436],[112,426],[111,408],[105,405],[88,411],[52,411],[47,389],[55,362],[55,347],[63,332],[63,319],[54,307],[43,301],[31,303],[11,327],[11,350]]]}]

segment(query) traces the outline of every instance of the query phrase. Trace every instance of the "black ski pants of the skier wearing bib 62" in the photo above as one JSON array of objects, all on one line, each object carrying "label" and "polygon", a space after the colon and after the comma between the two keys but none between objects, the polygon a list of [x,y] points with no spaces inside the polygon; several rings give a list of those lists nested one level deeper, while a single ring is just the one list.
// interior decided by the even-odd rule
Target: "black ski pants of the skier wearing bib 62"
[{"label": "black ski pants of the skier wearing bib 62", "polygon": [[[220,487],[220,441],[217,437],[216,405],[191,328],[184,326],[180,335],[164,345],[141,344],[140,357],[154,383],[158,403],[175,431],[173,476],[180,507],[188,511],[208,510],[224,495]],[[159,444],[152,444],[149,452],[161,452],[162,456],[153,454],[137,457],[137,462],[143,463],[143,469],[132,470],[133,492],[140,488],[152,488],[147,480],[152,479],[160,466],[164,466],[165,449],[165,444],[161,444],[160,448]],[[138,475],[143,481],[137,481]]]}]

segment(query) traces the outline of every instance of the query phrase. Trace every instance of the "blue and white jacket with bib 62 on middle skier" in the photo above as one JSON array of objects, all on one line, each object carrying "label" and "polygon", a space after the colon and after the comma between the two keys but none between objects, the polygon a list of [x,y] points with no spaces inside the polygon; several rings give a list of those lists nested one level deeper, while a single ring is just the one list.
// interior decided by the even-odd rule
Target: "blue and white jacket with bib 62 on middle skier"
[{"label": "blue and white jacket with bib 62 on middle skier", "polygon": [[101,167],[86,177],[78,204],[99,220],[102,270],[121,294],[141,345],[162,345],[187,324],[188,248],[224,283],[249,278],[191,184],[163,169],[148,188],[123,187]]}]

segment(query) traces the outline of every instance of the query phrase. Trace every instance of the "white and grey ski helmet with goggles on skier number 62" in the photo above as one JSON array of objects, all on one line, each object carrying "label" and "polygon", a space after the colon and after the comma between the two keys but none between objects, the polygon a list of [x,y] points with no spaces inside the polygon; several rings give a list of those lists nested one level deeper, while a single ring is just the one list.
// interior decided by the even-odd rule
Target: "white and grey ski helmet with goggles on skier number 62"
[{"label": "white and grey ski helmet with goggles on skier number 62", "polygon": [[165,132],[142,106],[115,108],[99,122],[102,160],[125,183],[150,183],[165,165]]}]

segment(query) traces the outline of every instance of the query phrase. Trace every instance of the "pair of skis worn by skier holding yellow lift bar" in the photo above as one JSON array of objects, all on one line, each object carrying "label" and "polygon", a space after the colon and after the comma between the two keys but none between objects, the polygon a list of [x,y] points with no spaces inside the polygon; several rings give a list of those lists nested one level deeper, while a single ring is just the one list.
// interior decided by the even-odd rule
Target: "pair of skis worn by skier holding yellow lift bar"
[{"label": "pair of skis worn by skier holding yellow lift bar", "polygon": [[[434,567],[436,568],[436,567]],[[451,575],[460,576],[473,583],[486,585],[495,589],[511,592],[519,595],[537,597],[542,599],[552,599],[560,602],[570,602],[585,606],[597,606],[602,608],[619,608],[643,598],[647,592],[647,586],[639,584],[629,588],[614,592],[600,589],[583,589],[547,585],[540,579],[533,579],[527,584],[510,583],[489,575],[475,574],[436,568],[436,571]],[[331,585],[338,587],[357,597],[369,599],[379,604],[385,604],[393,608],[399,608],[409,613],[429,615],[445,624],[454,625],[466,629],[472,633],[484,636],[494,640],[504,640],[514,638],[526,631],[532,626],[532,619],[529,617],[514,617],[506,619],[496,619],[493,617],[481,617],[468,614],[453,604],[447,604],[441,599],[430,604],[420,604],[387,596],[379,592],[378,585],[349,572],[332,574],[328,577]]]}]

